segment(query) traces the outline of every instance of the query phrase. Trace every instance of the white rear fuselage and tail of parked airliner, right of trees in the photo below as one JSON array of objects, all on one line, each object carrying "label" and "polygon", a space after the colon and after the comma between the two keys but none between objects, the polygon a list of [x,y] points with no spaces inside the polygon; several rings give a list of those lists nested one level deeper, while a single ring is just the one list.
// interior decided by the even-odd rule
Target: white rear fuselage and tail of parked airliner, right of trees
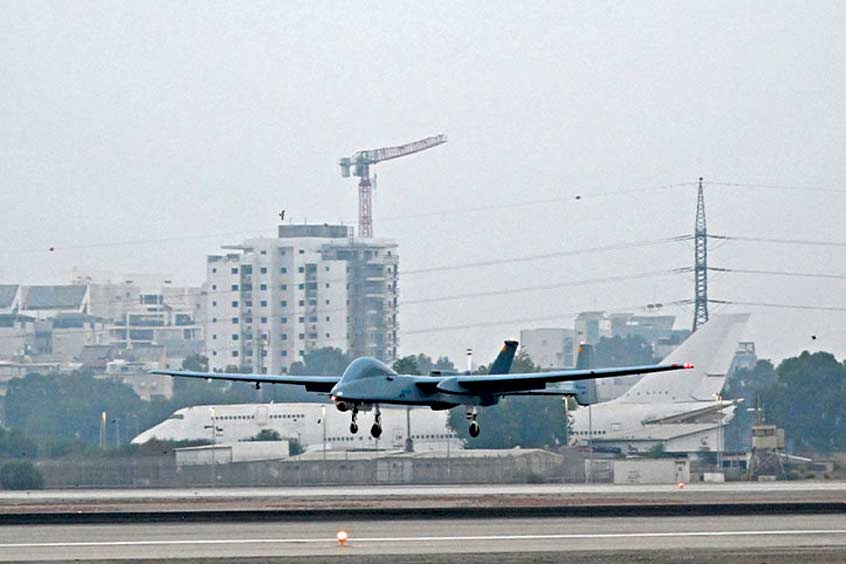
[{"label": "white rear fuselage and tail of parked airliner, right of trees", "polygon": [[594,448],[623,453],[658,443],[667,452],[719,449],[721,427],[736,406],[719,394],[748,319],[748,313],[714,316],[663,361],[683,359],[694,369],[647,374],[622,396],[571,412],[571,444],[587,446],[592,438]]}]

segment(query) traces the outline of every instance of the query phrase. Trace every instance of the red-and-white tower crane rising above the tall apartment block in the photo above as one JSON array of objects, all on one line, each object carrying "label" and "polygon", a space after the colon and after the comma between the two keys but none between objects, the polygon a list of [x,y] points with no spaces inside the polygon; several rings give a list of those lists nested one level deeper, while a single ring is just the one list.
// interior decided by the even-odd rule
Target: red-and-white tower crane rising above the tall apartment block
[{"label": "red-and-white tower crane rising above the tall apartment block", "polygon": [[382,161],[389,161],[405,157],[432,147],[446,143],[446,135],[433,135],[419,141],[397,145],[357,151],[352,157],[342,158],[341,176],[359,177],[358,183],[358,236],[362,239],[373,237],[373,185],[370,182],[370,167]]}]

